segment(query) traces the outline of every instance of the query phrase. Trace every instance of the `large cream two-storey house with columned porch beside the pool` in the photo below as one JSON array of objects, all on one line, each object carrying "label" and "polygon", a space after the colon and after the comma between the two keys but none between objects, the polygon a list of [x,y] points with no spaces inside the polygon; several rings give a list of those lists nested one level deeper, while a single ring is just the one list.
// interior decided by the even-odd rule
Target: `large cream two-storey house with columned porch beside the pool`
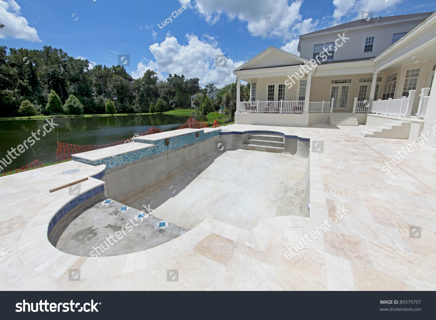
[{"label": "large cream two-storey house with columned porch beside the pool", "polygon": [[436,14],[352,21],[301,35],[298,50],[300,57],[269,47],[233,71],[238,101],[240,80],[251,84],[235,123],[308,126],[340,112],[364,124],[387,103],[373,100],[390,98],[389,114],[415,116],[435,73]]}]

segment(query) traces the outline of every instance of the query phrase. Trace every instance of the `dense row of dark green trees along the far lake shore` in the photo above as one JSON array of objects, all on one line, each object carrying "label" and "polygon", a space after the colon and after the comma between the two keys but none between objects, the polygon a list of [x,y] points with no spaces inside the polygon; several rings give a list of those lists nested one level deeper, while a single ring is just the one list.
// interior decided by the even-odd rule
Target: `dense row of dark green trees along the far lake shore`
[{"label": "dense row of dark green trees along the far lake shore", "polygon": [[[184,75],[169,74],[161,81],[155,71],[147,70],[142,78],[133,79],[123,66],[90,68],[88,60],[51,46],[42,50],[9,48],[9,52],[0,46],[0,117],[164,112],[190,108],[195,94],[194,104],[204,114],[220,106],[235,109],[236,82],[210,101],[206,94],[215,89],[213,83],[201,88],[198,78]],[[249,84],[241,85],[241,100],[249,100]]]}]

